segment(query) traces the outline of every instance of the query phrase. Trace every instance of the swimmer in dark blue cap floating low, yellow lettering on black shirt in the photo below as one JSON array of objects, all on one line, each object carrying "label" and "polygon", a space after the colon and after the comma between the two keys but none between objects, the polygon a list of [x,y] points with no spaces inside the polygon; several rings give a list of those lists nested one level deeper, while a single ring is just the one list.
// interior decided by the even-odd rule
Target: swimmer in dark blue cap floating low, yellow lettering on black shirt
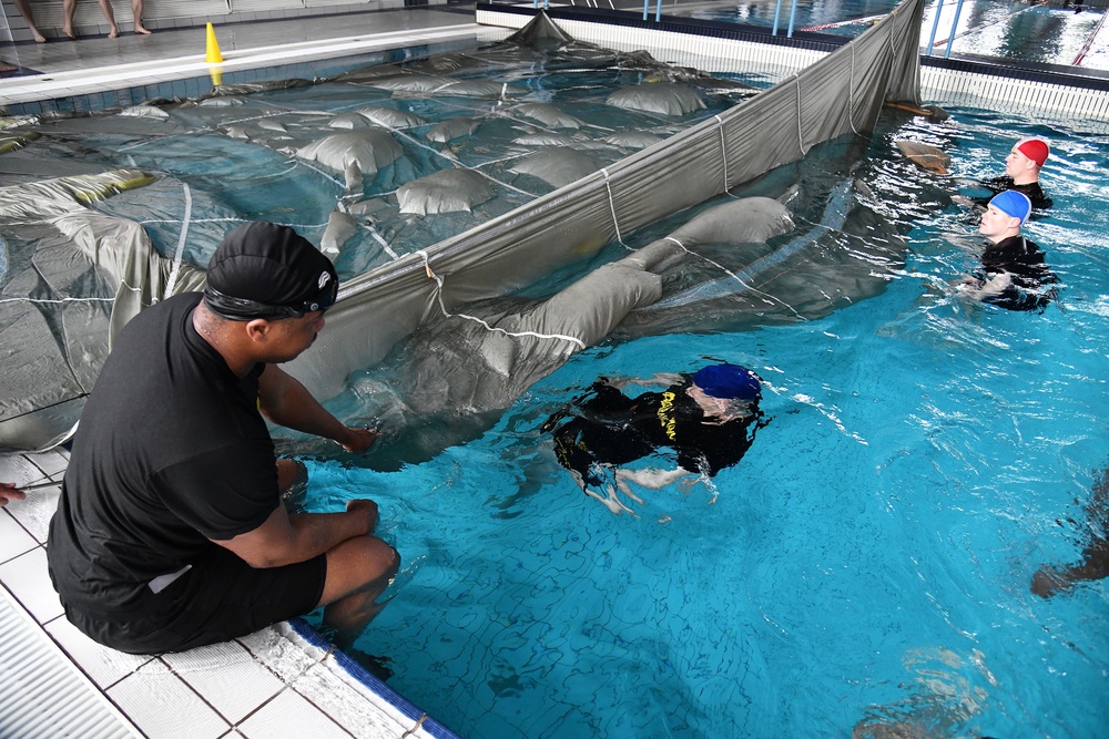
[{"label": "swimmer in dark blue cap floating low, yellow lettering on black shirt", "polygon": [[[669,384],[661,392],[629,398],[629,384]],[[593,383],[574,403],[552,415],[542,430],[554,435],[559,463],[582,492],[613,513],[632,512],[617,495],[641,503],[630,483],[658,490],[688,475],[708,480],[736,464],[763,425],[762,383],[754,372],[726,362],[692,374],[657,374],[650,380]],[[622,465],[673,450],[678,466],[629,469]]]}]

